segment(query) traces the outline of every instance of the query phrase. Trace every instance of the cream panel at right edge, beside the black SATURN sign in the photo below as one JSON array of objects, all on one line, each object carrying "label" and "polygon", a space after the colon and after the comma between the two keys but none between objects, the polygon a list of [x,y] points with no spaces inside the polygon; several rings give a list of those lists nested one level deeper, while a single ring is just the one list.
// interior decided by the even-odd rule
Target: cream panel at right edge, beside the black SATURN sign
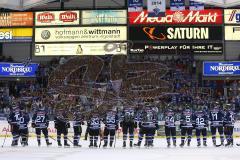
[{"label": "cream panel at right edge, beside the black SATURN sign", "polygon": [[239,41],[240,40],[240,26],[225,26],[225,40]]}]

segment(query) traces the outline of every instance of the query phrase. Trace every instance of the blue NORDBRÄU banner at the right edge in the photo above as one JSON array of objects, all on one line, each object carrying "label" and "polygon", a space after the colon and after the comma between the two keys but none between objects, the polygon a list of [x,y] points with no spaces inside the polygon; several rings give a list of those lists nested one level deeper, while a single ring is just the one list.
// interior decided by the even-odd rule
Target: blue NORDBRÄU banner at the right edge
[{"label": "blue NORDBR\u00c4U banner at the right edge", "polygon": [[239,76],[239,62],[203,62],[203,76]]}]

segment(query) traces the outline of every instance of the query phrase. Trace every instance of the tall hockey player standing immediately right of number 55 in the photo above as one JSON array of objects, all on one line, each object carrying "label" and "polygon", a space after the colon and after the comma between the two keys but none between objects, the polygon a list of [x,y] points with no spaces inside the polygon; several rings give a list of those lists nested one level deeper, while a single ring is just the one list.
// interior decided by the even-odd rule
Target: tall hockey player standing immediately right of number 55
[{"label": "tall hockey player standing immediately right of number 55", "polygon": [[130,147],[133,147],[133,138],[134,138],[134,128],[137,128],[136,123],[134,122],[135,115],[134,109],[127,107],[123,110],[121,115],[120,127],[123,131],[123,147],[126,147],[127,135],[129,134]]}]

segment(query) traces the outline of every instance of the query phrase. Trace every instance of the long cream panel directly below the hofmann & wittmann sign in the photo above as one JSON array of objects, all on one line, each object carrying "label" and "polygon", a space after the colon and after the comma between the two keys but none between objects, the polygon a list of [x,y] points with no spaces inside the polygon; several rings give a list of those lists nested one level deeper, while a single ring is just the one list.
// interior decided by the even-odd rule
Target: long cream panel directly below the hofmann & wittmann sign
[{"label": "long cream panel directly below the hofmann & wittmann sign", "polygon": [[35,56],[127,54],[126,43],[35,44]]}]

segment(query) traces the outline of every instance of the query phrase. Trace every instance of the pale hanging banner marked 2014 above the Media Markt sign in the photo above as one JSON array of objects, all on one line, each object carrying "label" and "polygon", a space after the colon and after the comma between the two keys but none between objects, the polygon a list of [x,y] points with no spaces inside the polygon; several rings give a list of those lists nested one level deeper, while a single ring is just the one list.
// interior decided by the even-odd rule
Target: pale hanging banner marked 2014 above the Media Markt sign
[{"label": "pale hanging banner marked 2014 above the Media Markt sign", "polygon": [[165,0],[148,0],[148,17],[165,17],[166,1]]}]

